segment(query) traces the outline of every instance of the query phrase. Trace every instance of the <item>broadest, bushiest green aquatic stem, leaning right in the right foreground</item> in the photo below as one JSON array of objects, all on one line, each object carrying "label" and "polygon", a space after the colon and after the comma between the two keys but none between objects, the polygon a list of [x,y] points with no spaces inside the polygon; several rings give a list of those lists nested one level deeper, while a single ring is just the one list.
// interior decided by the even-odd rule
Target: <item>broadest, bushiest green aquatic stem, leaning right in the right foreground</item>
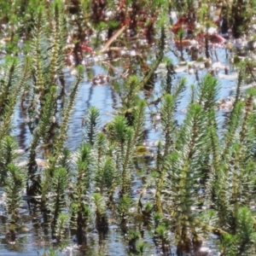
[{"label": "broadest, bushiest green aquatic stem, leaning right in the right foreground", "polygon": [[168,207],[171,218],[175,220],[175,234],[179,250],[185,250],[186,244],[193,243],[189,232],[192,232],[196,243],[198,231],[193,219],[195,212],[191,210],[196,197],[196,179],[201,176],[200,152],[207,138],[205,123],[206,114],[199,104],[191,104],[186,119],[179,131],[177,147],[166,158],[168,178],[166,189],[170,192],[172,204]]}]

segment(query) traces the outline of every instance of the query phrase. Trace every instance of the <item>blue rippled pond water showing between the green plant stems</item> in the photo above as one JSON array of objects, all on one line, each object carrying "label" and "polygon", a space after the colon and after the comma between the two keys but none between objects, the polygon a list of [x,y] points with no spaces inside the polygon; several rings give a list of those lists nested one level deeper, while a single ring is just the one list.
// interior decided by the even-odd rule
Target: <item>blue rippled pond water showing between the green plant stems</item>
[{"label": "blue rippled pond water showing between the green plant stems", "polygon": [[[173,45],[172,45],[173,46]],[[230,61],[226,59],[226,49],[224,47],[219,47],[216,49],[218,54],[218,60],[216,57],[212,55],[213,63],[220,62],[223,66],[226,65],[230,67]],[[170,57],[173,61],[174,65],[178,65],[177,58],[172,54],[172,51],[166,52],[166,56]],[[189,55],[185,55],[185,58],[189,60]],[[186,108],[189,101],[190,96],[190,84],[196,84],[197,80],[195,78],[195,74],[189,74],[185,71],[186,67],[182,66],[177,67],[176,71],[176,81],[178,79],[182,79],[183,77],[187,78],[187,89],[183,91],[183,98],[178,105],[177,109],[177,121],[181,123],[185,116]],[[231,67],[230,67],[231,70]],[[208,72],[207,69],[199,70],[200,77],[203,77]],[[80,84],[79,92],[76,97],[76,102],[73,107],[72,118],[70,119],[70,124],[68,127],[68,137],[67,137],[67,148],[70,150],[75,150],[78,148],[79,144],[83,140],[83,130],[82,130],[82,121],[84,118],[84,114],[86,110],[90,108],[90,106],[95,106],[100,110],[101,118],[102,118],[102,127],[109,120],[113,118],[113,106],[116,105],[118,101],[117,94],[113,91],[113,87],[110,83],[102,84],[94,86],[90,81],[91,74],[96,76],[100,73],[106,73],[106,70],[103,69],[100,65],[93,65],[91,67],[87,67],[84,82]],[[227,98],[232,93],[232,89],[236,87],[236,72],[231,72],[229,74],[224,73],[224,69],[221,68],[219,73],[216,74],[221,84],[221,90],[219,93],[219,98]],[[68,75],[67,73],[67,83],[73,82],[73,77]],[[67,84],[68,87],[68,84]],[[157,95],[158,91],[160,91],[160,78],[156,79],[154,86],[154,94]],[[157,109],[154,109],[157,111]],[[224,111],[219,111],[219,119],[224,119]],[[148,112],[149,117],[149,112]],[[24,120],[23,113],[20,110],[20,105],[18,104],[15,110],[15,122],[14,122],[14,130],[13,135],[17,138],[20,149],[25,149],[29,146],[30,142],[30,133],[26,127],[26,122]],[[146,122],[146,128],[148,130],[147,140],[148,143],[154,143],[155,141],[160,139],[160,134],[155,129],[151,120],[148,118]],[[147,163],[149,166],[154,165],[152,159],[148,160]],[[141,187],[141,179],[137,177],[133,177],[134,183],[132,190],[134,191],[134,200],[137,199],[137,189]],[[87,245],[86,247],[77,247],[74,234],[70,234],[70,239],[67,240],[67,244],[62,245],[60,249],[59,246],[55,243],[55,241],[51,240],[50,230],[44,228],[44,225],[40,221],[40,214],[38,214],[38,209],[30,208],[26,198],[24,198],[24,205],[20,209],[20,215],[22,218],[20,219],[20,226],[22,225],[22,229],[20,230],[20,234],[15,243],[9,243],[6,239],[7,232],[7,221],[8,219],[5,216],[5,212],[3,211],[3,190],[0,192],[0,255],[43,255],[45,252],[49,251],[50,248],[54,248],[58,251],[59,255],[127,255],[128,254],[128,246],[127,242],[124,239],[124,234],[117,224],[110,224],[109,230],[107,234],[100,235],[96,230],[91,230],[87,237]],[[2,210],[1,210],[2,209]],[[110,213],[111,214],[111,213]],[[113,216],[114,218],[114,216]],[[140,221],[135,223],[137,225],[142,225]],[[152,239],[152,234],[150,230],[143,230],[143,241],[146,242],[146,252],[144,255],[160,255],[161,251],[155,247],[154,241]],[[172,234],[170,234],[171,241],[173,239]],[[216,247],[214,246],[214,237],[211,237],[209,241],[205,242],[205,247],[207,247],[208,253],[201,255],[217,255]],[[172,247],[171,247],[172,249]],[[101,254],[102,253],[102,254]],[[169,255],[175,254],[175,247],[173,247],[172,252]]]}]

